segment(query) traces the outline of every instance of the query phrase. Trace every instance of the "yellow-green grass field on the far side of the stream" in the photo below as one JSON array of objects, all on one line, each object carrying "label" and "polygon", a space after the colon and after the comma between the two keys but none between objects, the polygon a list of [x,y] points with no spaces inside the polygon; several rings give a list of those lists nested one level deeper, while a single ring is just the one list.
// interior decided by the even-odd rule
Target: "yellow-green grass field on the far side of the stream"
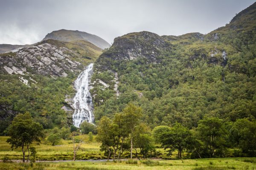
[{"label": "yellow-green grass field on the far side of the stream", "polygon": [[[77,152],[77,160],[107,159],[107,157],[100,151],[100,143],[95,140],[93,140],[93,142],[86,142],[88,141],[88,135],[76,136],[77,139],[80,137],[84,139],[85,142],[81,145],[82,150]],[[21,148],[12,150],[11,145],[6,143],[6,139],[8,139],[8,136],[0,136],[0,159],[3,159],[5,156],[8,156],[9,159],[12,160],[22,159]],[[56,146],[49,145],[46,141],[42,141],[40,145],[33,144],[33,146],[37,151],[37,160],[73,160],[73,143],[71,140],[61,140]],[[162,156],[166,156],[166,152],[162,148],[158,148],[157,151],[163,153]],[[176,152],[173,153],[172,159],[176,158],[176,154]],[[123,156],[127,156],[128,158],[128,151],[124,152]],[[184,154],[184,156],[186,156],[186,154]]]}]

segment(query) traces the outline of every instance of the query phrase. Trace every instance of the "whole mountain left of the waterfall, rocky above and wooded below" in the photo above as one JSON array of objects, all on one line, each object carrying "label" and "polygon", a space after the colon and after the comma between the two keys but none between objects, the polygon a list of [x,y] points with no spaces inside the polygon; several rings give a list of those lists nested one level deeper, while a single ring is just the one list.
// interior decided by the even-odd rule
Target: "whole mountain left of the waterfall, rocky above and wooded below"
[{"label": "whole mountain left of the waterfall, rocky above and wooded below", "polygon": [[73,82],[100,54],[101,48],[85,40],[43,40],[0,54],[0,134],[26,111],[44,128],[72,124]]}]

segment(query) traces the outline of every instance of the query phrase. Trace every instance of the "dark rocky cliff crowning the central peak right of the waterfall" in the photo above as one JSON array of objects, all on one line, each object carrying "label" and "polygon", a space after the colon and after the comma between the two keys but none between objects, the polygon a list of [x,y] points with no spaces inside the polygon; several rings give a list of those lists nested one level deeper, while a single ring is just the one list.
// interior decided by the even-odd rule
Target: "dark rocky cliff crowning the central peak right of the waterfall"
[{"label": "dark rocky cliff crowning the central peak right of the waterfall", "polygon": [[102,58],[132,60],[145,57],[154,62],[167,47],[169,47],[168,43],[157,34],[148,31],[135,32],[115,38],[111,48],[103,53],[99,60]]}]

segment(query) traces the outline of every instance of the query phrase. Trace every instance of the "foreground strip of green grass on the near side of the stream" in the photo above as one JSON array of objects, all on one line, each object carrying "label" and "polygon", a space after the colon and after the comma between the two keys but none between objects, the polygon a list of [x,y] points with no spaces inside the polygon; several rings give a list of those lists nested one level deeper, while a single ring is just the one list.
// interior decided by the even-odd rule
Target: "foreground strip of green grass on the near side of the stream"
[{"label": "foreground strip of green grass on the near side of the stream", "polygon": [[[130,163],[130,164],[128,164]],[[0,170],[256,170],[256,158],[3,163]]]}]

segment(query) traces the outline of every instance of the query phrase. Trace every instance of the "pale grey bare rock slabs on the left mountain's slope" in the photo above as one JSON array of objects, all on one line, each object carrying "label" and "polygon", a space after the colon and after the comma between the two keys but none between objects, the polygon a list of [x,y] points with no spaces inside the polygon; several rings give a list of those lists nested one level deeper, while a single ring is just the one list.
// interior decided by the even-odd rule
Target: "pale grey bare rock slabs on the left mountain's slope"
[{"label": "pale grey bare rock slabs on the left mountain's slope", "polygon": [[66,77],[69,71],[81,71],[81,63],[74,61],[73,56],[76,53],[68,48],[43,43],[0,55],[0,69],[8,74]]}]

